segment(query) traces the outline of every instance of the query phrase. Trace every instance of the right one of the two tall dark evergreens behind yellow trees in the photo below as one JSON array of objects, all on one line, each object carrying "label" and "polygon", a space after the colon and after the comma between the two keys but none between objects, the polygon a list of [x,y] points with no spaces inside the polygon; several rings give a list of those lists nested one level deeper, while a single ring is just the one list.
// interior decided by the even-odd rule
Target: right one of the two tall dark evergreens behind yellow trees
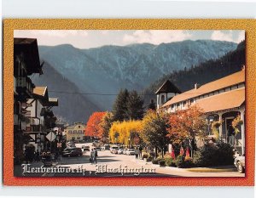
[{"label": "right one of the two tall dark evergreens behind yellow trees", "polygon": [[143,99],[137,94],[137,91],[131,91],[127,99],[127,110],[125,117],[130,120],[141,120],[143,119]]}]

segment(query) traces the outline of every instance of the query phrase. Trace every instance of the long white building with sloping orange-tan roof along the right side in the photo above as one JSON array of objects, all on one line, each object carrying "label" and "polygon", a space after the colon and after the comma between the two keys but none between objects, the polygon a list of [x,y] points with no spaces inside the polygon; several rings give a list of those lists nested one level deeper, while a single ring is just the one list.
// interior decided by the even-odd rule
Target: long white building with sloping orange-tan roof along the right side
[{"label": "long white building with sloping orange-tan roof along the right side", "polygon": [[[212,122],[219,122],[218,128],[219,139],[229,142],[228,129],[236,118],[241,116],[242,124],[239,128],[240,133],[236,134],[234,147],[241,154],[245,153],[245,68],[229,76],[224,76],[213,82],[204,85],[195,84],[195,88],[180,94],[174,94],[172,86],[167,88],[167,93],[157,92],[158,110],[167,113],[173,113],[177,110],[186,110],[189,106],[197,105],[201,108],[206,117],[208,125]],[[172,94],[171,98],[167,98],[168,94]],[[159,99],[160,94],[164,95],[164,99]],[[166,94],[166,96],[165,96]],[[163,104],[164,102],[164,104]],[[209,127],[210,129],[211,127]],[[211,135],[211,130],[208,131]]]}]

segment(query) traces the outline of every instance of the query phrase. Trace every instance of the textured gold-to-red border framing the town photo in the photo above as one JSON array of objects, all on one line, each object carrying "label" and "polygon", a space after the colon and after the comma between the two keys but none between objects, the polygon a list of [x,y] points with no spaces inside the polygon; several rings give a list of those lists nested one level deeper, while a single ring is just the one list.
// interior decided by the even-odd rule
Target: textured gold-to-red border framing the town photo
[{"label": "textured gold-to-red border framing the town photo", "polygon": [[[244,178],[15,178],[14,177],[14,30],[245,30],[246,177]],[[3,184],[108,186],[238,186],[254,184],[256,20],[3,20]]]}]

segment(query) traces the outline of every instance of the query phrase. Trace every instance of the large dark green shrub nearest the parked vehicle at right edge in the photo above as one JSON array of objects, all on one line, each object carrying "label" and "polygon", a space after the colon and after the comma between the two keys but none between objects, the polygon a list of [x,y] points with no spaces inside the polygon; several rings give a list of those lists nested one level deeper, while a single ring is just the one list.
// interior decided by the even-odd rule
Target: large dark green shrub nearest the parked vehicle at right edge
[{"label": "large dark green shrub nearest the parked vehicle at right edge", "polygon": [[233,149],[227,143],[218,143],[216,146],[206,144],[195,152],[193,158],[196,167],[232,165],[233,161]]}]

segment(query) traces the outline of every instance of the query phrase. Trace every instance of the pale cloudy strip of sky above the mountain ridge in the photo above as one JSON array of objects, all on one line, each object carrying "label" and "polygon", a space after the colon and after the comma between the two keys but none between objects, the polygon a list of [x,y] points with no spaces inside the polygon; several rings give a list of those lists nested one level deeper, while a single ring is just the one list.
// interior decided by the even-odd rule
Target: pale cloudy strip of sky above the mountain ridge
[{"label": "pale cloudy strip of sky above the mountain ridge", "polygon": [[38,45],[55,46],[71,44],[75,48],[97,48],[104,45],[125,46],[148,42],[158,45],[162,42],[211,39],[227,42],[241,42],[245,31],[183,31],[183,30],[17,30],[15,37],[37,38]]}]

